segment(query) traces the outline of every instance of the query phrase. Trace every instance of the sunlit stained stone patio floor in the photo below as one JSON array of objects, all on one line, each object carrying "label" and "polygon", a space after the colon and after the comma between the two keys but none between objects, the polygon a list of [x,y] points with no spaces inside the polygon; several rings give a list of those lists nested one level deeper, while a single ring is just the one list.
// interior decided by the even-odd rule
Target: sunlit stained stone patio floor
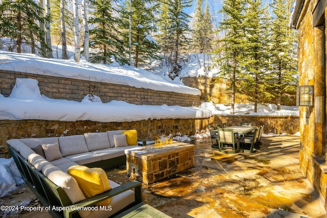
[{"label": "sunlit stained stone patio floor", "polygon": [[[299,137],[261,141],[261,149],[251,154],[222,154],[211,148],[208,139],[195,141],[195,167],[144,185],[144,202],[172,217],[327,217],[299,169]],[[130,181],[126,166],[107,174],[117,183]],[[20,197],[26,201],[23,196],[34,199],[30,204],[38,204],[26,185],[0,199],[0,204]],[[40,211],[10,216],[31,215],[50,217]]]}]

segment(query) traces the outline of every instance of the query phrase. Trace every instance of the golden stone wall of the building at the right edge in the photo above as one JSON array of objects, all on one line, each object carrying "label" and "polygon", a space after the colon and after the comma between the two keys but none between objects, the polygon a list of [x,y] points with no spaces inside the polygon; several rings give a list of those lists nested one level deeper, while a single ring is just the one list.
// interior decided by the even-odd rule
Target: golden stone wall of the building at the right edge
[{"label": "golden stone wall of the building at the right edge", "polygon": [[[300,168],[327,209],[326,165],[326,70],[325,70],[325,14],[322,0],[297,2],[295,28],[298,29],[299,85],[314,86],[314,107],[299,107],[300,113]],[[313,16],[315,9],[322,10],[321,18]],[[317,11],[316,11],[317,12]],[[323,13],[325,12],[325,13]],[[320,23],[321,22],[321,23]]]}]

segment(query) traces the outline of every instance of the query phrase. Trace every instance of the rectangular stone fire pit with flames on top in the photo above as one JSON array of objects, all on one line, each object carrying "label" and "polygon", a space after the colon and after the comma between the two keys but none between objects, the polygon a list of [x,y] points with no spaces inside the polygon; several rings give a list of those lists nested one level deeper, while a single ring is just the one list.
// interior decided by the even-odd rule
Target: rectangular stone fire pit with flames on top
[{"label": "rectangular stone fire pit with flames on top", "polygon": [[194,166],[194,145],[183,142],[127,149],[125,153],[127,174],[146,185]]}]

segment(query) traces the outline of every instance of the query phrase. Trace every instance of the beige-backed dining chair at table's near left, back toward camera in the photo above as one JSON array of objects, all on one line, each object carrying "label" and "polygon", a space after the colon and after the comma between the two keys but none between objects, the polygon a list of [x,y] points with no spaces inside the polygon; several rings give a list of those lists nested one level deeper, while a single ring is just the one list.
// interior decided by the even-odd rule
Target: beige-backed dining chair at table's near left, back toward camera
[{"label": "beige-backed dining chair at table's near left, back toward camera", "polygon": [[[219,151],[222,153],[238,153],[240,151],[240,141],[234,136],[233,129],[218,129]],[[227,145],[227,147],[225,147]],[[229,147],[230,146],[230,147]],[[232,147],[232,150],[231,150]]]}]

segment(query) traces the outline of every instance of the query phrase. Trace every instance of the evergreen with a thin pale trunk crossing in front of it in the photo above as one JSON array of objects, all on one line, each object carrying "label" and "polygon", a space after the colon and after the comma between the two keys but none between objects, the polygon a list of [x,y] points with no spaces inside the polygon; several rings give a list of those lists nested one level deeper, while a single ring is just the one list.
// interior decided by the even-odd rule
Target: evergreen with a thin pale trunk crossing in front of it
[{"label": "evergreen with a thin pale trunk crossing in front of it", "polygon": [[[157,42],[149,34],[153,32],[152,13],[157,7],[153,1],[149,0],[133,0],[131,1],[131,52],[134,59],[134,66],[138,67],[140,63],[148,63],[155,59],[159,60],[158,51],[160,49]],[[123,19],[123,36],[124,44],[128,44],[128,27],[129,27],[129,1],[124,1],[121,9],[121,17]]]}]

